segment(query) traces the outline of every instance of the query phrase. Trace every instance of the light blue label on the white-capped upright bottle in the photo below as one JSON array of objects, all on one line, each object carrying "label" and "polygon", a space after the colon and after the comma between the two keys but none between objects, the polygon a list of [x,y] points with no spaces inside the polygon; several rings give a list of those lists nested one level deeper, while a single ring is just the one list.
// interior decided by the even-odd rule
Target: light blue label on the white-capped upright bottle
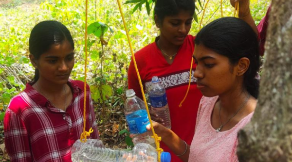
[{"label": "light blue label on the white-capped upright bottle", "polygon": [[147,131],[149,118],[146,110],[138,110],[126,116],[128,127],[131,134],[142,134]]}]

